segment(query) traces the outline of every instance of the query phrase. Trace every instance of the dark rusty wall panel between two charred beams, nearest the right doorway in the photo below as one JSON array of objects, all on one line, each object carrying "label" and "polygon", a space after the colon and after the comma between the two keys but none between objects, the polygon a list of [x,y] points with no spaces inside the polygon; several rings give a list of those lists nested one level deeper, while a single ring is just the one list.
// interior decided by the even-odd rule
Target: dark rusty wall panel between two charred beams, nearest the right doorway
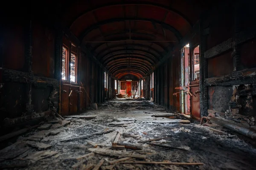
[{"label": "dark rusty wall panel between two charred beams, nearest the right doorway", "polygon": [[207,60],[208,78],[230,74],[233,68],[231,51]]}]

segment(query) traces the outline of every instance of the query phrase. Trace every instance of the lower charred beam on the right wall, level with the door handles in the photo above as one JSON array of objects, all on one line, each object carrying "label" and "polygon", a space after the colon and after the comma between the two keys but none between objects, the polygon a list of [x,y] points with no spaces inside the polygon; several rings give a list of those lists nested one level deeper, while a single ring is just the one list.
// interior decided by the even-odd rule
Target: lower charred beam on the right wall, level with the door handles
[{"label": "lower charred beam on the right wall, level with the door handles", "polygon": [[236,71],[225,76],[212,77],[204,80],[206,86],[231,86],[256,83],[256,68]]}]

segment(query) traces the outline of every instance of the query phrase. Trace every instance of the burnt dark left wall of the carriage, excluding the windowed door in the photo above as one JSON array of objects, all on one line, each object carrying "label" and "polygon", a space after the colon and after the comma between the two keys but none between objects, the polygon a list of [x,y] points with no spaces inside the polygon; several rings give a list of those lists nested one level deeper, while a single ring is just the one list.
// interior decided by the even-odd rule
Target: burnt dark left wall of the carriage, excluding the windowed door
[{"label": "burnt dark left wall of the carriage, excluding the windowed door", "polygon": [[[61,114],[61,59],[62,45],[76,45],[78,57],[77,83],[83,83],[92,102],[101,103],[113,99],[114,90],[105,96],[102,64],[81,44],[67,28],[45,11],[33,11],[33,15],[3,18],[0,26],[0,122],[21,118],[34,119],[37,113],[50,114],[55,109]],[[29,7],[28,7],[29,10]],[[11,11],[9,11],[11,13]],[[8,13],[6,13],[7,15]],[[2,18],[1,18],[2,19]],[[114,88],[114,79],[109,74]],[[80,113],[89,107],[89,97],[84,91],[78,94],[75,111]],[[47,115],[46,114],[46,115]],[[38,122],[37,122],[38,123]],[[27,125],[27,123],[23,123]],[[15,121],[13,127],[17,127]],[[0,127],[0,128],[1,128]],[[12,130],[12,129],[10,129]]]}]

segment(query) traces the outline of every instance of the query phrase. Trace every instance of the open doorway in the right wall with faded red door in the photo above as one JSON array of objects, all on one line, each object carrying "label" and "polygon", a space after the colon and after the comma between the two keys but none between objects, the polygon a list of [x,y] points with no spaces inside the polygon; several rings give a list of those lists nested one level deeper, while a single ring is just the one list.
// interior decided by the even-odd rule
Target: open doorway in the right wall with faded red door
[{"label": "open doorway in the right wall with faded red door", "polygon": [[[199,77],[200,77],[200,51],[199,45],[189,49],[189,44],[181,49],[181,79],[180,87],[175,89],[180,92],[180,112],[190,115],[193,119],[200,120],[200,97],[199,97]],[[190,53],[192,53],[190,55]]]}]

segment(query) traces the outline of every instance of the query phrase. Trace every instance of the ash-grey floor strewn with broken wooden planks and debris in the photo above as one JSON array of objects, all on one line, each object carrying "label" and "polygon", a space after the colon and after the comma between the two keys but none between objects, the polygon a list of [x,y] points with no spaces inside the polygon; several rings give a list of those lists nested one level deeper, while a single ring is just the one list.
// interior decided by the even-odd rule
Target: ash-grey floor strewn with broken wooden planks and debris
[{"label": "ash-grey floor strewn with broken wooden planks and debris", "polygon": [[256,149],[229,130],[220,135],[163,110],[145,100],[113,100],[48,122],[1,150],[0,169],[255,169]]}]

